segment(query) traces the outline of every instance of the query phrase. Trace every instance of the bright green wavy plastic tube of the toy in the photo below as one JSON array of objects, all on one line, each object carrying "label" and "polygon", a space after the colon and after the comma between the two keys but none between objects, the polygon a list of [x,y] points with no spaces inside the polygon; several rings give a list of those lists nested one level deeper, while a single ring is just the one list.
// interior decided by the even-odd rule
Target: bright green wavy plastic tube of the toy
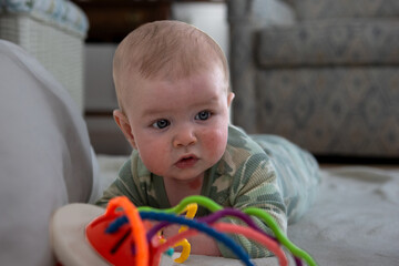
[{"label": "bright green wavy plastic tube of the toy", "polygon": [[[212,213],[223,209],[223,207],[219,204],[215,203],[211,198],[207,198],[205,196],[194,195],[194,196],[187,196],[187,197],[183,198],[183,201],[181,201],[176,206],[171,207],[171,208],[160,209],[160,208],[153,208],[153,207],[149,207],[149,206],[142,206],[142,207],[139,207],[139,212],[180,214],[185,209],[185,207],[188,204],[192,204],[192,203],[196,203],[203,207],[206,207]],[[317,266],[316,262],[313,259],[313,257],[308,253],[306,253],[304,249],[300,249],[299,247],[297,247],[294,243],[291,243],[287,238],[287,236],[278,227],[276,221],[268,213],[266,213],[265,211],[263,211],[260,208],[256,208],[256,207],[244,208],[243,213],[260,218],[273,231],[273,233],[275,234],[275,237],[278,239],[278,242],[282,245],[284,245],[294,256],[304,259],[306,262],[306,264],[309,266]]]}]

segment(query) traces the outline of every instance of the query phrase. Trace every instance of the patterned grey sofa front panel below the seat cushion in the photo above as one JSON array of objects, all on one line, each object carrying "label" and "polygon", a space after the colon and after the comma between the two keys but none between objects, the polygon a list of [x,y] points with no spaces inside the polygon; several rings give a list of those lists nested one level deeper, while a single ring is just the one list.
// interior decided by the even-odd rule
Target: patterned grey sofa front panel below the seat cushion
[{"label": "patterned grey sofa front panel below the seat cushion", "polygon": [[398,158],[398,66],[270,69],[256,83],[258,132],[317,155]]}]

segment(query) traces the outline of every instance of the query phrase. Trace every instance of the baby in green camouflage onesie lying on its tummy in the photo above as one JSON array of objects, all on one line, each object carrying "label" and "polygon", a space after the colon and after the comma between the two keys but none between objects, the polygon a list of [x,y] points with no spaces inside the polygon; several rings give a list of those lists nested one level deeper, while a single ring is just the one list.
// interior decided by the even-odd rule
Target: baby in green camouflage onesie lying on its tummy
[{"label": "baby in green camouflage onesie lying on its tummy", "polygon": [[[113,115],[134,150],[99,205],[124,195],[136,206],[168,208],[186,196],[203,195],[224,207],[263,208],[286,231],[288,218],[300,216],[311,202],[309,190],[305,196],[297,192],[300,185],[290,190],[301,181],[317,183],[310,154],[277,136],[255,141],[228,124],[234,99],[228,64],[206,33],[177,21],[144,24],[117,47],[113,79],[120,105]],[[200,208],[197,216],[205,214]],[[238,223],[231,217],[224,222]],[[177,226],[170,226],[164,235],[176,232]],[[234,237],[252,257],[269,255],[245,237]],[[190,243],[193,254],[234,256],[205,235]]]}]

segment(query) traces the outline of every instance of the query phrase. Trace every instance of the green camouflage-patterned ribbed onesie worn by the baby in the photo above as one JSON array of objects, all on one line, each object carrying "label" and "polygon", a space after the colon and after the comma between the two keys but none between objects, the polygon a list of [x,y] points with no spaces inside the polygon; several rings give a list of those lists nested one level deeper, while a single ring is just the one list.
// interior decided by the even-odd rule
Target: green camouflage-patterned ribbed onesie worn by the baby
[{"label": "green camouflage-patterned ribbed onesie worn by the baby", "polygon": [[[221,161],[206,171],[201,195],[224,207],[263,208],[286,232],[287,223],[299,218],[313,203],[318,183],[318,165],[308,152],[283,137],[248,136],[231,125],[226,151]],[[163,178],[149,172],[136,151],[98,205],[105,206],[111,198],[121,195],[127,196],[136,206],[171,207]],[[197,216],[206,214],[206,209],[200,208]],[[272,234],[264,223],[254,221]],[[224,222],[242,224],[231,217]],[[270,255],[245,237],[233,237],[253,258]],[[223,244],[219,249],[224,257],[235,257]]]}]

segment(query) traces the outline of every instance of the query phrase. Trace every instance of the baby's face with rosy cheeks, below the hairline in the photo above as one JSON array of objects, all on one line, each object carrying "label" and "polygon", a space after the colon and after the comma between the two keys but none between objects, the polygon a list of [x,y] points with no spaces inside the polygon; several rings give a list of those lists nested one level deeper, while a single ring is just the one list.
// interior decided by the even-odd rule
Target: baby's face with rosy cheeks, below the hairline
[{"label": "baby's face with rosy cheeks, below the hairline", "polygon": [[221,68],[177,81],[135,81],[125,114],[145,166],[164,178],[192,181],[217,163],[227,144],[233,93]]}]

